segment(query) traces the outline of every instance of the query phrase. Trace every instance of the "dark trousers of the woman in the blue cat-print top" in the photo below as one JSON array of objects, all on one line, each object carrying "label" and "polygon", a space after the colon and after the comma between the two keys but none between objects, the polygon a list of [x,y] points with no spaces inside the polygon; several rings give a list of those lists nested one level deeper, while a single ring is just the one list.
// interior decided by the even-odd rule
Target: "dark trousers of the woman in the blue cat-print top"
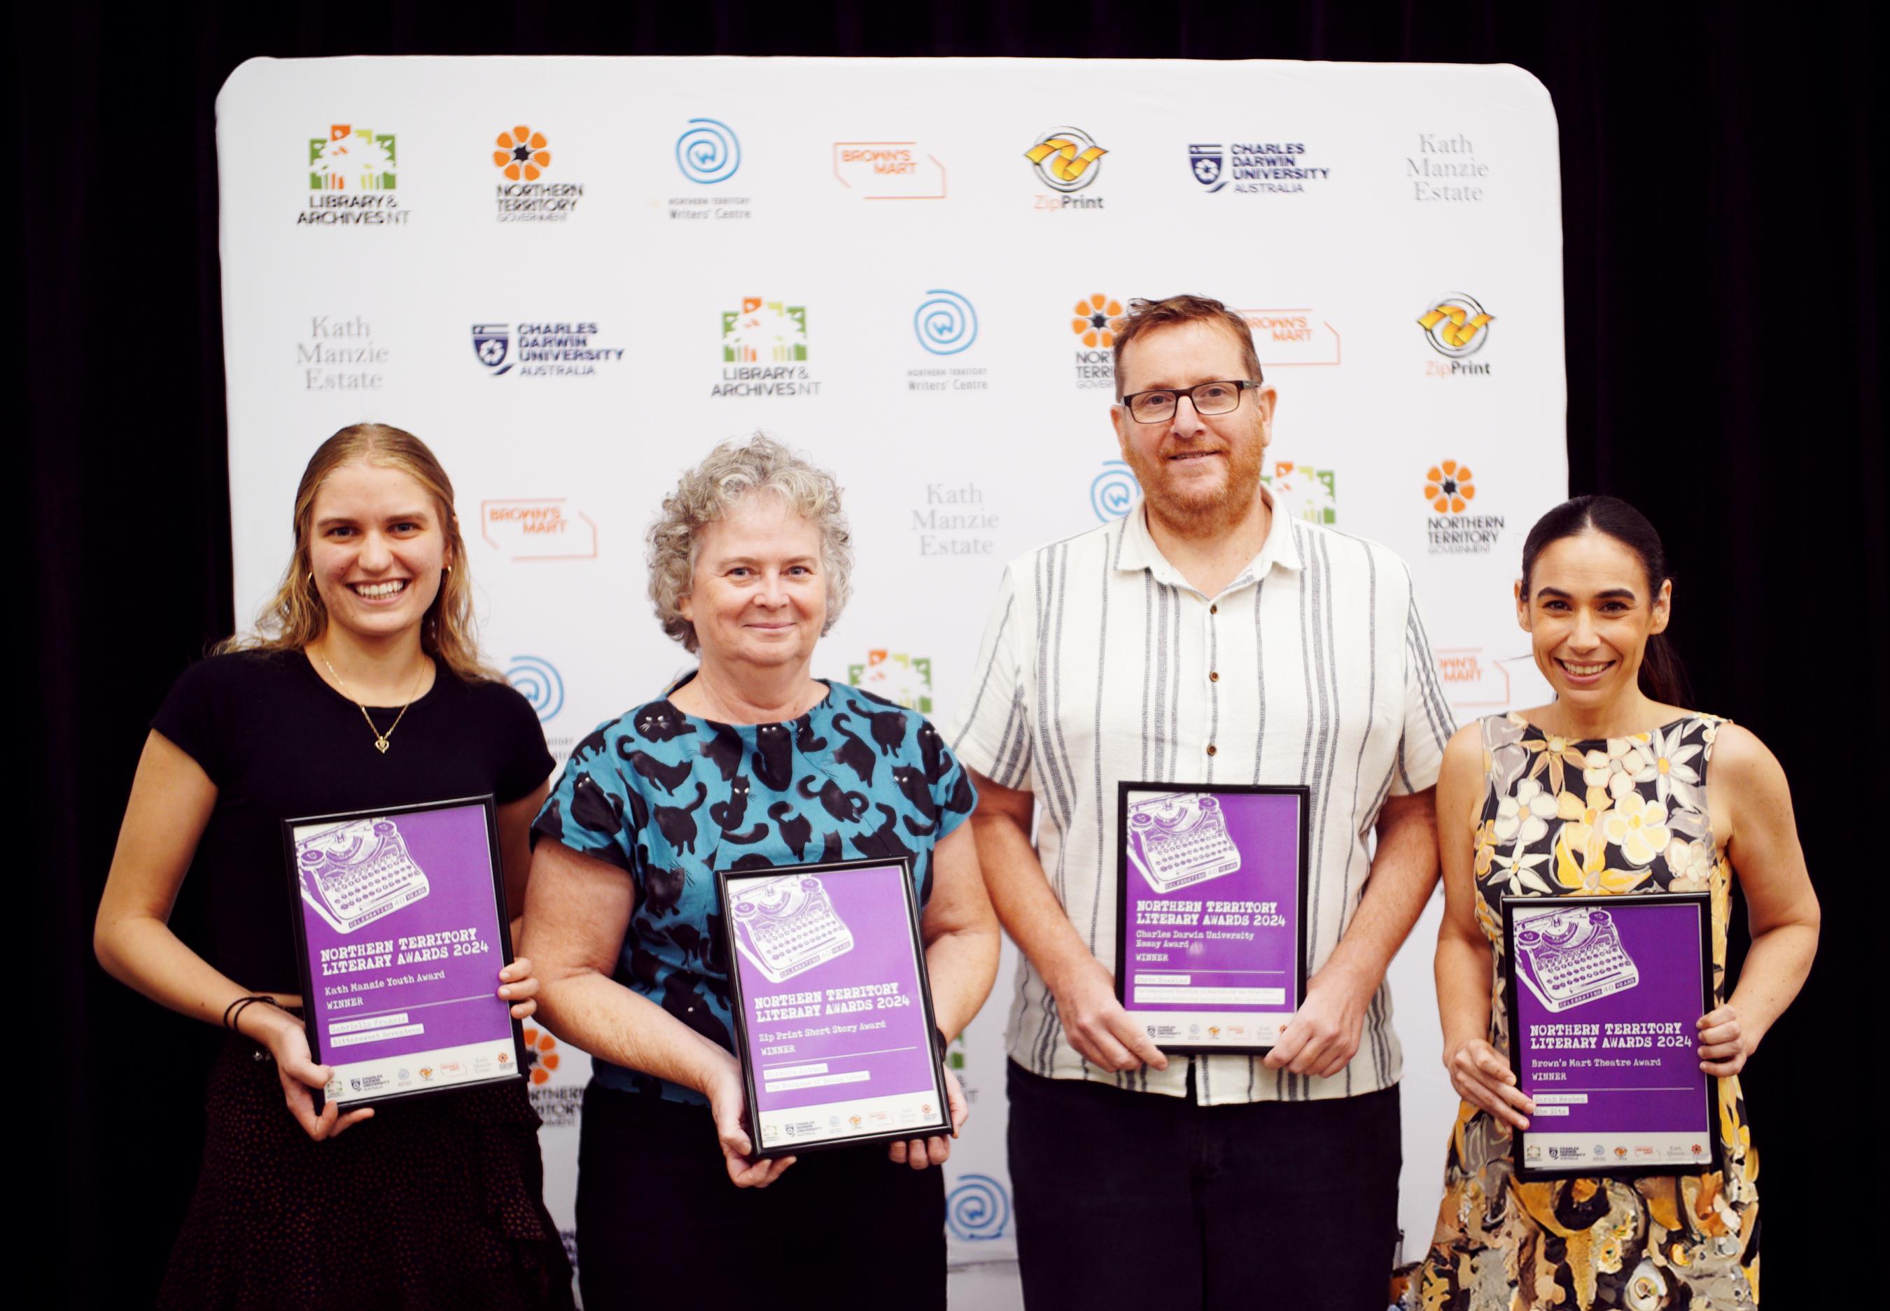
[{"label": "dark trousers of the woman in the blue cat-print top", "polygon": [[593,1082],[578,1288],[586,1311],[754,1311],[792,1303],[794,1288],[828,1307],[945,1311],[943,1173],[894,1166],[873,1143],[807,1152],[767,1188],[737,1188],[707,1107]]}]

